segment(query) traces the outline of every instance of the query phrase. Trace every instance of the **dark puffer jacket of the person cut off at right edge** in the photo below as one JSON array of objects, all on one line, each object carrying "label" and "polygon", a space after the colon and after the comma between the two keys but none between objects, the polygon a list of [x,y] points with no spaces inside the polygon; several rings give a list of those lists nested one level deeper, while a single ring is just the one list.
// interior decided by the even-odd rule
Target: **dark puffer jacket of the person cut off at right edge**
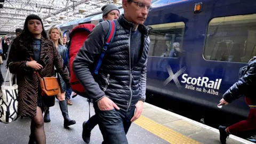
[{"label": "dark puffer jacket of the person cut off at right edge", "polygon": [[256,59],[247,64],[247,69],[238,82],[233,84],[228,91],[223,94],[223,99],[228,103],[245,95],[251,99],[252,104],[256,105]]}]

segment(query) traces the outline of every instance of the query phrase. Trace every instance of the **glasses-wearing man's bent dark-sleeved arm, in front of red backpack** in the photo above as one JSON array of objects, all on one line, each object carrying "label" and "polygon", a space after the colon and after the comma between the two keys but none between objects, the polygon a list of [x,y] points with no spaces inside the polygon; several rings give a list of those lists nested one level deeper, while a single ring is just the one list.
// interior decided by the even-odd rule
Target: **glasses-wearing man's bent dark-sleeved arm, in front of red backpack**
[{"label": "glasses-wearing man's bent dark-sleeved arm, in front of red backpack", "polygon": [[105,92],[103,92],[100,89],[99,84],[94,81],[90,71],[90,68],[94,67],[94,61],[97,61],[104,45],[106,33],[103,30],[102,23],[103,26],[106,25],[106,22],[104,21],[94,27],[92,33],[78,51],[72,66],[74,74],[78,81],[83,85],[87,95],[95,101],[105,97]]}]

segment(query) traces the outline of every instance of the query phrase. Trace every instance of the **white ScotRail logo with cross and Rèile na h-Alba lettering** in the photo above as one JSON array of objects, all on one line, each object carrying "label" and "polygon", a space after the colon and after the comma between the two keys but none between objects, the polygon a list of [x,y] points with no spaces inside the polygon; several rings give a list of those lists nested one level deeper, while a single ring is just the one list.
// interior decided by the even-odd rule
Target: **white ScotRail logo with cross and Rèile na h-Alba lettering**
[{"label": "white ScotRail logo with cross and R\u00e8ile na h-Alba lettering", "polygon": [[[186,67],[181,68],[177,73],[173,74],[171,66],[167,66],[167,71],[169,73],[169,77],[164,81],[164,86],[170,83],[172,80],[180,90],[182,88],[178,77],[185,73]],[[220,89],[222,79],[215,79],[215,81],[211,81],[209,77],[189,77],[188,74],[182,75],[181,83],[185,84],[185,89],[205,92],[210,94],[219,95],[218,90]]]}]

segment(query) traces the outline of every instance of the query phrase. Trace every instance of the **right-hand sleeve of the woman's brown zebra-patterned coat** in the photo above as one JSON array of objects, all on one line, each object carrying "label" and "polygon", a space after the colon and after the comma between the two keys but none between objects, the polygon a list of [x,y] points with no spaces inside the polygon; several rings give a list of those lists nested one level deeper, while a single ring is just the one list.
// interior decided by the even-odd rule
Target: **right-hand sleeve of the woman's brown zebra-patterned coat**
[{"label": "right-hand sleeve of the woman's brown zebra-patterned coat", "polygon": [[69,86],[69,73],[67,67],[63,68],[63,60],[57,50],[57,48],[53,45],[53,54],[54,54],[54,66],[57,71],[60,73],[60,76],[63,78],[65,83]]}]

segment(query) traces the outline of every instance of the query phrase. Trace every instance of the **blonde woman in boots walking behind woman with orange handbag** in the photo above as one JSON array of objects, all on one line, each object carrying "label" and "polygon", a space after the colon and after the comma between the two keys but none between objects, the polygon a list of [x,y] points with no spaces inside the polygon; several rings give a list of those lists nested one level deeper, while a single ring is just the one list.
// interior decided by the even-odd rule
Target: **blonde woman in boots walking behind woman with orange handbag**
[{"label": "blonde woman in boots walking behind woman with orange handbag", "polygon": [[[59,54],[61,55],[62,60],[64,61],[66,58],[67,47],[63,46],[60,29],[58,27],[52,27],[48,31],[48,37],[49,39],[52,39],[54,45],[58,49]],[[67,101],[65,100],[66,84],[63,81],[62,77],[59,76],[58,73],[57,73],[57,77],[59,79],[59,84],[61,87],[61,92],[57,95],[57,99],[59,100],[60,110],[64,118],[64,127],[66,128],[69,125],[75,124],[76,121],[71,120],[68,116],[68,106],[67,106]],[[50,112],[49,112],[49,108],[47,108],[45,110],[44,122],[49,123],[50,121],[51,121]]]}]

